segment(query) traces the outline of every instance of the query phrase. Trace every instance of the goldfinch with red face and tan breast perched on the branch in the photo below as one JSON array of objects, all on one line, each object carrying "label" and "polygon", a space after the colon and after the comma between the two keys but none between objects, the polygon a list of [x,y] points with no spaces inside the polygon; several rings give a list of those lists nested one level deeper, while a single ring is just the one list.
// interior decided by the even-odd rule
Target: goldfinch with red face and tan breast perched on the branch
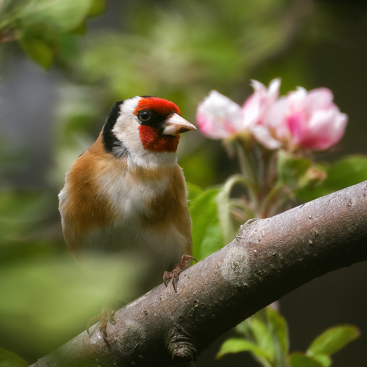
[{"label": "goldfinch with red face and tan breast perched on the branch", "polygon": [[[180,134],[190,130],[195,125],[166,99],[146,95],[115,103],[59,193],[63,235],[77,261],[90,254],[138,255],[165,269],[164,284],[172,279],[177,292],[175,279],[195,260],[188,192],[176,155]],[[101,316],[106,344],[113,312]]]}]

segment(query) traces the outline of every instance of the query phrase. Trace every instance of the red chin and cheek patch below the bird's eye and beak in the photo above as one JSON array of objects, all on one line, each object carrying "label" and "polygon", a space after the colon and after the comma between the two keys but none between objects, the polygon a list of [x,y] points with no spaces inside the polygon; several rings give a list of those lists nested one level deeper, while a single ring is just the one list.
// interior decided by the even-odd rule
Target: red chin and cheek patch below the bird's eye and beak
[{"label": "red chin and cheek patch below the bird's eye and beak", "polygon": [[172,153],[177,150],[177,145],[180,138],[179,135],[161,136],[159,135],[157,128],[148,125],[139,126],[139,137],[145,149],[149,149],[152,152]]}]

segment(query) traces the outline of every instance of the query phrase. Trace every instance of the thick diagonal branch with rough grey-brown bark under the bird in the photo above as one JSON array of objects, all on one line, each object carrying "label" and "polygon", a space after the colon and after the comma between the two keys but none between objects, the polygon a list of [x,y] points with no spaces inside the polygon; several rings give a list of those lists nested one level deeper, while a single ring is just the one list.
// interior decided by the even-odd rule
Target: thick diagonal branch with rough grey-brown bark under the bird
[{"label": "thick diagonal branch with rough grey-brown bark under the bird", "polygon": [[171,366],[195,360],[240,321],[327,272],[367,259],[367,181],[268,219],[32,366]]}]

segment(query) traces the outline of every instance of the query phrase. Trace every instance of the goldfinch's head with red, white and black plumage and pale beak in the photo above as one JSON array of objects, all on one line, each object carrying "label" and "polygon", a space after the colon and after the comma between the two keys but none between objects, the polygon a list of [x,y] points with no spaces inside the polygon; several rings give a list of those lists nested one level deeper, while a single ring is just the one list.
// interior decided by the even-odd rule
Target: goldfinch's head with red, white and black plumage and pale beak
[{"label": "goldfinch's head with red, white and black plumage and pale beak", "polygon": [[112,107],[102,141],[108,152],[128,156],[139,166],[170,164],[176,159],[179,134],[195,129],[173,102],[152,96],[132,97]]}]

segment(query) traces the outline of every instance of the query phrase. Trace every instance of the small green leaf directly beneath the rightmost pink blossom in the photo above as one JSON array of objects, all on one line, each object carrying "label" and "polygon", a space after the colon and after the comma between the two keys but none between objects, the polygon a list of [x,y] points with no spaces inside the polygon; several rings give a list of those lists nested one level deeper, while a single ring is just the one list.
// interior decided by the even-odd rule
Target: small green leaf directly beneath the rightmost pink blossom
[{"label": "small green leaf directly beneath the rightmost pink blossom", "polygon": [[286,184],[291,190],[297,189],[299,179],[305,175],[310,164],[310,160],[305,157],[279,150],[277,160],[279,181]]}]

